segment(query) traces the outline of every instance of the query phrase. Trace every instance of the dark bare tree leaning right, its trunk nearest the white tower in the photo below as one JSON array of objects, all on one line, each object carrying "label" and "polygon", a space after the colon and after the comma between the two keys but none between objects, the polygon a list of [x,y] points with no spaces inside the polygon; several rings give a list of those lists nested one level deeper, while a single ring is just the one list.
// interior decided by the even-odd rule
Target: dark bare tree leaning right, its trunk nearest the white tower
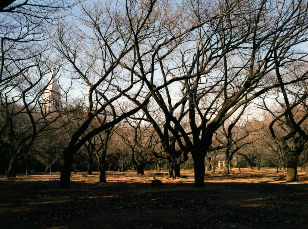
[{"label": "dark bare tree leaning right, its trunk nearest the white tower", "polygon": [[[63,151],[64,168],[60,179],[62,188],[70,187],[72,159],[80,147],[90,138],[102,131],[108,131],[140,110],[151,96],[146,96],[140,106],[131,107],[126,113],[118,109],[125,93],[132,96],[138,96],[140,93],[136,90],[136,87],[140,86],[140,79],[125,70],[124,64],[120,62],[125,62],[134,51],[131,30],[116,9],[112,8],[115,5],[80,2],[79,6],[80,14],[74,18],[83,24],[82,28],[73,22],[69,24],[62,21],[54,40],[59,55],[67,61],[72,78],[79,84],[84,83],[88,89],[87,117],[73,133],[70,143]],[[143,26],[146,27],[145,24]],[[144,31],[138,39],[146,40],[147,36]],[[94,119],[100,126],[83,136]]]}]

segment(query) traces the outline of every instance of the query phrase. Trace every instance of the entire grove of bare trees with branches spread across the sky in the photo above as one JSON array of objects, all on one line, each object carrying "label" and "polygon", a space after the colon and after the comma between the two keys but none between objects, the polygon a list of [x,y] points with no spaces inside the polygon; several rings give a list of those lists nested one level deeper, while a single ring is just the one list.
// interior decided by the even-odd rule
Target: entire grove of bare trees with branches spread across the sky
[{"label": "entire grove of bare trees with branches spread across the sky", "polygon": [[[17,0],[0,9],[6,178],[37,167],[61,171],[70,188],[81,168],[107,182],[107,170],[142,175],[167,163],[169,178],[193,167],[203,187],[219,161],[225,175],[241,163],[285,167],[287,181],[307,171],[307,1]],[[54,80],[61,102],[47,112]]]}]

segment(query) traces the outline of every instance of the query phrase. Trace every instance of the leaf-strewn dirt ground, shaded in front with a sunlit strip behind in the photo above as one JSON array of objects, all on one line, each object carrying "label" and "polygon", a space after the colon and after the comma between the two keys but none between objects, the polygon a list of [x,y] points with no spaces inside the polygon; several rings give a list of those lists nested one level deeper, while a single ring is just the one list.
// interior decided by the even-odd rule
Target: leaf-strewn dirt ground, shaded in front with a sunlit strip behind
[{"label": "leaf-strewn dirt ground, shaded in front with a sunlit strip behind", "polygon": [[308,228],[306,173],[298,182],[274,168],[206,173],[205,188],[194,188],[192,170],[175,180],[167,171],[107,172],[108,183],[78,172],[68,190],[59,173],[0,176],[0,228]]}]

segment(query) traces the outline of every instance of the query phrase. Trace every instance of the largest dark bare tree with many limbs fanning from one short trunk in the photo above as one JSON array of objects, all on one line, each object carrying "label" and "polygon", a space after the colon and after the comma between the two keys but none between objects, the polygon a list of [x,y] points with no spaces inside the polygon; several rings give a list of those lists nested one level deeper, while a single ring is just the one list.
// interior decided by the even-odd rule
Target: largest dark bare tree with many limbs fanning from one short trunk
[{"label": "largest dark bare tree with many limbs fanning from one short trunk", "polygon": [[[181,151],[192,153],[195,186],[202,187],[204,159],[215,131],[242,105],[280,86],[280,82],[270,78],[278,57],[280,66],[284,66],[290,59],[306,55],[294,49],[307,41],[307,2],[277,3],[279,7],[267,1],[221,1],[219,6],[216,2],[187,2],[187,23],[181,25],[188,29],[174,31],[163,41],[153,38],[151,44],[155,45],[147,47],[147,55],[142,53],[145,45],[137,39],[142,24],[135,22],[141,21],[142,16],[130,10],[138,4],[131,1],[126,5],[136,47],[136,61],[129,69],[143,80],[165,115],[164,133],[151,120],[164,150],[170,151],[168,129]],[[158,71],[160,81],[156,79]],[[168,79],[177,83],[170,85]],[[305,79],[302,76],[283,83]],[[181,97],[174,98],[170,91],[178,85],[181,86],[177,95]],[[157,90],[162,86],[164,90]],[[183,117],[176,109],[184,110],[182,116],[189,117],[189,128],[182,126]],[[147,118],[151,119],[148,114]]]}]

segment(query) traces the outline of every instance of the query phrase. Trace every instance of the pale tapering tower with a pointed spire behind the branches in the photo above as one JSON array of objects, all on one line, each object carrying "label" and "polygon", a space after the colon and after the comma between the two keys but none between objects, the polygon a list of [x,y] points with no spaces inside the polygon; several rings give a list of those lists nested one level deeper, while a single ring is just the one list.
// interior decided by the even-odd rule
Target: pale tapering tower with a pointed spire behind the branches
[{"label": "pale tapering tower with a pointed spire behind the branches", "polygon": [[55,74],[55,60],[51,69],[51,76],[49,78],[49,84],[45,90],[43,108],[45,112],[59,110],[61,107],[61,94],[58,79]]}]

